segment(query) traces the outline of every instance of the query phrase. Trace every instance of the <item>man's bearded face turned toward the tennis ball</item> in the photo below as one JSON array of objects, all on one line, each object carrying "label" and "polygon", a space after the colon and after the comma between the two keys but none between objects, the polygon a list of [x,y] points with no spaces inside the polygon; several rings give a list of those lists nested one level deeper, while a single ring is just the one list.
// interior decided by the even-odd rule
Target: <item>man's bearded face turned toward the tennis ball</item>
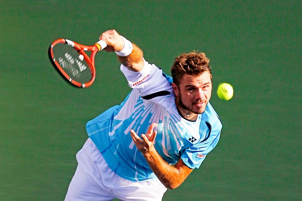
[{"label": "man's bearded face turned toward the tennis ball", "polygon": [[184,75],[179,86],[175,83],[172,85],[178,107],[195,114],[205,111],[212,91],[211,74],[208,71],[198,76]]}]

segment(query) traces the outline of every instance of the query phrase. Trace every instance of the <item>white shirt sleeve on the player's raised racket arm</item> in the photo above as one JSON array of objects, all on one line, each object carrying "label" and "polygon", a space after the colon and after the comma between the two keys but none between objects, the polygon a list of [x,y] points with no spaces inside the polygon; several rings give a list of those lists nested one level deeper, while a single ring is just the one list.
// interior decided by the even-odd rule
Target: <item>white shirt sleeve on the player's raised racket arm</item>
[{"label": "white shirt sleeve on the player's raised racket arm", "polygon": [[144,60],[144,67],[139,72],[130,71],[121,65],[121,71],[128,80],[131,88],[137,88],[141,96],[149,95],[159,91],[172,92],[171,83],[164,77],[163,71],[154,64]]}]

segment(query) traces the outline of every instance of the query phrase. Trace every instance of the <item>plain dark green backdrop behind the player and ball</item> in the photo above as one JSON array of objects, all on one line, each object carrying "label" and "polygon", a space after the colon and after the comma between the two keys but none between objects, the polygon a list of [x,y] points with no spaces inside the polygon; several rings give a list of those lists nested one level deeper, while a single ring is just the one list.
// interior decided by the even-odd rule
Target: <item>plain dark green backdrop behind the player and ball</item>
[{"label": "plain dark green backdrop behind the player and ball", "polygon": [[[47,56],[68,38],[116,29],[170,74],[176,56],[211,59],[217,147],[164,200],[302,200],[301,1],[0,1],[0,200],[63,200],[85,124],[130,91],[113,53],[86,89]],[[234,86],[218,99],[220,82]]]}]

